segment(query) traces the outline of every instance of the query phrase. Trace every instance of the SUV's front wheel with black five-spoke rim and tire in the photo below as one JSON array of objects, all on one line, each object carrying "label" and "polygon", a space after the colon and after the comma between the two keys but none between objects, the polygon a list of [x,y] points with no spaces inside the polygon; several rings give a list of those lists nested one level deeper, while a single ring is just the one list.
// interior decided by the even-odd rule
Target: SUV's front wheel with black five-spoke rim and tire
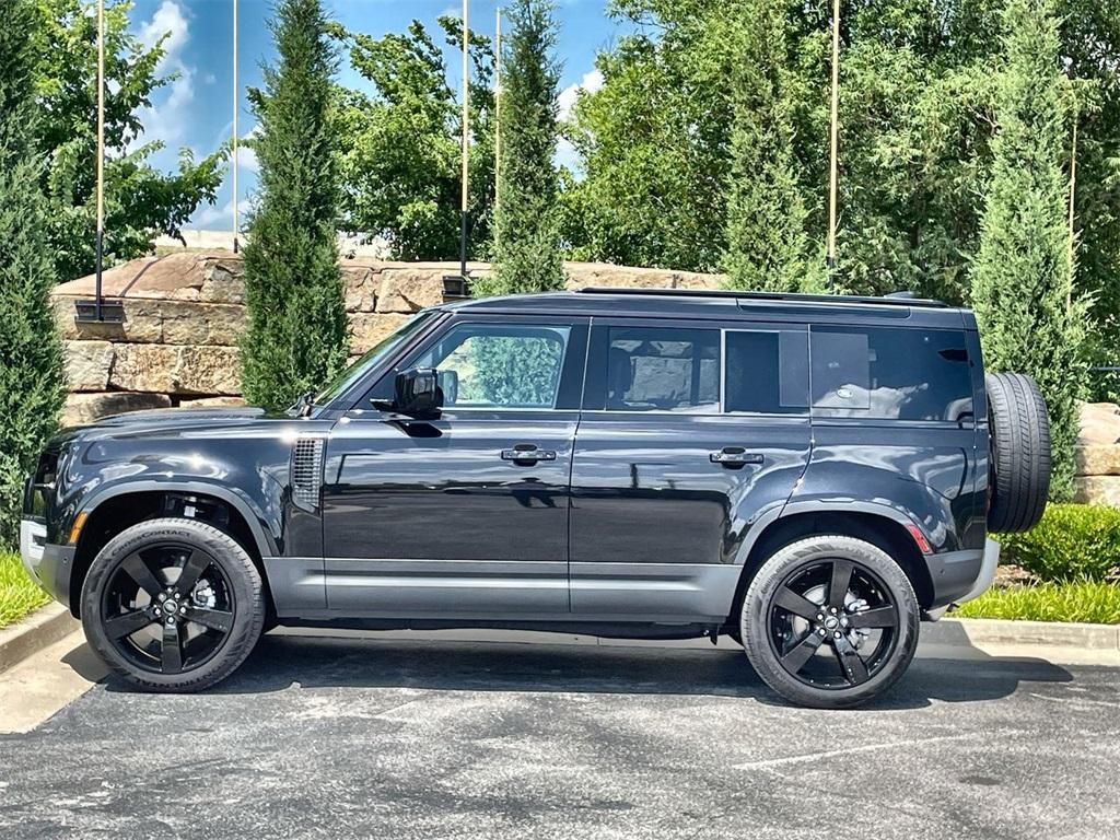
[{"label": "SUV's front wheel with black five-spoke rim and tire", "polygon": [[260,638],[267,612],[245,550],[188,519],[149,520],[110,540],[81,604],[86,638],[105,664],[160,692],[202,691],[228,676]]}]

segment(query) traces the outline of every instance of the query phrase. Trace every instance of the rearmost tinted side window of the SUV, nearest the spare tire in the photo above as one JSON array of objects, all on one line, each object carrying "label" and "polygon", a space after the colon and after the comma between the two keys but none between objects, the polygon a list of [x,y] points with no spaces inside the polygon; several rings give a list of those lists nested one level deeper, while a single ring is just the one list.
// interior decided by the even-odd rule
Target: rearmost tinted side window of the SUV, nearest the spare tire
[{"label": "rearmost tinted side window of the SUV, nearest the spare tire", "polygon": [[814,327],[814,413],[956,421],[972,411],[962,332]]}]

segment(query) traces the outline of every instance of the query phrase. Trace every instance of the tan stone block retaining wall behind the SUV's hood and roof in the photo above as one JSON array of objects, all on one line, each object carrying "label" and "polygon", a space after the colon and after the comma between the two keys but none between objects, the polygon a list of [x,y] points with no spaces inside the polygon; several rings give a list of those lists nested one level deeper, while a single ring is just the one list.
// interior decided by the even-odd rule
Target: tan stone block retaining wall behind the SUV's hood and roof
[{"label": "tan stone block retaining wall behind the SUV's hood and roof", "polygon": [[[444,300],[457,263],[344,260],[351,352],[364,353],[417,310]],[[485,274],[485,263],[469,265]],[[659,269],[568,263],[569,288],[716,288],[720,278]],[[120,298],[123,324],[76,324],[74,301],[92,298],[94,278],[55,289],[69,395],[64,424],[172,405],[239,404],[237,340],[244,329],[241,258],[174,253],[106,271],[103,293]]]}]

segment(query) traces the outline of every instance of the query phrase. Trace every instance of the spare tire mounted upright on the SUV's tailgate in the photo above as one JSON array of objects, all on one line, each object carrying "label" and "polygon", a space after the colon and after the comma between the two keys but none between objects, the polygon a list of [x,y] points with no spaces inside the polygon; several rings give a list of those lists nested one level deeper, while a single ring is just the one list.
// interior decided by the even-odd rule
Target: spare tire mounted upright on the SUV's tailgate
[{"label": "spare tire mounted upright on the SUV's tailgate", "polygon": [[1049,493],[1051,444],[1046,401],[1023,373],[989,373],[991,504],[988,530],[1026,531],[1042,519]]}]

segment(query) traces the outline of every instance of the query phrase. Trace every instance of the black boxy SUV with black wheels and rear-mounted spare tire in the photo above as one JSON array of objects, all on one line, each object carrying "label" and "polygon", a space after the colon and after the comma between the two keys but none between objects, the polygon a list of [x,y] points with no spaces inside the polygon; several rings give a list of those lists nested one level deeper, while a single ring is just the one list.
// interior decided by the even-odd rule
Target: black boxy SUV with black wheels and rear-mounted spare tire
[{"label": "black boxy SUV with black wheels and rear-mounted spare tire", "polygon": [[968,310],[588,289],[419,312],[281,414],[166,410],[55,437],[22,554],[147,689],[262,631],[726,634],[806,706],[894,683],[922,618],[1030,526],[1045,404],[984,377]]}]

